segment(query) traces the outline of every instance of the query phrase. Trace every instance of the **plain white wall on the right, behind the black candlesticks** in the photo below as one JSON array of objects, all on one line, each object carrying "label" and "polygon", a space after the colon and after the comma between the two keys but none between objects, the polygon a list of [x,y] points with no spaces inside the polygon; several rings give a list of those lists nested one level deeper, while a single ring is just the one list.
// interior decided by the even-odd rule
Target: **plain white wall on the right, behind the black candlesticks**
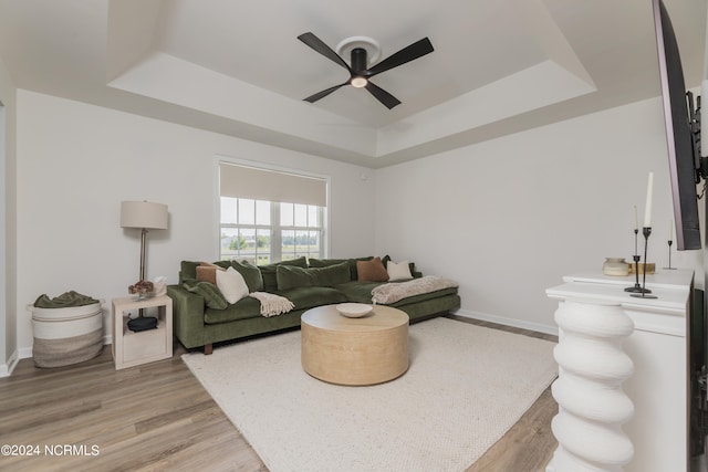
[{"label": "plain white wall on the right, behind the black candlesticks", "polygon": [[[648,259],[668,263],[666,156],[656,98],[381,169],[376,250],[458,281],[460,314],[552,333],[545,289],[606,256],[632,260],[649,170]],[[701,264],[701,251],[671,256],[702,286]]]}]

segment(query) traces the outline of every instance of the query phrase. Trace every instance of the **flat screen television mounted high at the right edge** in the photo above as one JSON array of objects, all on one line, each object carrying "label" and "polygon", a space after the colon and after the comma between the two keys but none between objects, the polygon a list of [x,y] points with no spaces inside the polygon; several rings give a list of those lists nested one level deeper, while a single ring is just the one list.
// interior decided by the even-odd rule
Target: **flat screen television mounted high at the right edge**
[{"label": "flat screen television mounted high at the right edge", "polygon": [[694,109],[693,95],[686,92],[678,43],[664,2],[653,0],[653,6],[674,196],[676,247],[679,251],[700,249],[696,189],[701,178],[700,114]]}]

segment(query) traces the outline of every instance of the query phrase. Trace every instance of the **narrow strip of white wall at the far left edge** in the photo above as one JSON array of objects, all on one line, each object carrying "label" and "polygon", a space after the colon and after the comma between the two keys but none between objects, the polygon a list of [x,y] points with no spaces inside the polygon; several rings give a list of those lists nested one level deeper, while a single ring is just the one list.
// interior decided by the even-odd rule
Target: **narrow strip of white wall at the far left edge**
[{"label": "narrow strip of white wall at the far left edge", "polygon": [[0,61],[0,377],[17,363],[15,88]]}]

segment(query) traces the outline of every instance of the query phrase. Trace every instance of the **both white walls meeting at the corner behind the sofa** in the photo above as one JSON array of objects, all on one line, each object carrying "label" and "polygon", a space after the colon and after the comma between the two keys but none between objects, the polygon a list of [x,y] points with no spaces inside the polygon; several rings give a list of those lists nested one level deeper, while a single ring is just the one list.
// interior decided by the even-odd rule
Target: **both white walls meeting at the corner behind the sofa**
[{"label": "both white walls meeting at the corner behind the sofa", "polygon": [[[598,271],[605,256],[631,259],[649,170],[649,260],[668,262],[658,98],[375,171],[27,91],[17,143],[22,356],[32,343],[25,306],[39,295],[76,290],[107,308],[135,282],[139,238],[118,225],[122,200],[169,206],[170,229],[149,234],[150,279],[171,283],[180,260],[216,258],[217,154],[331,176],[330,255],[413,260],[460,283],[464,315],[554,332],[545,289]],[[673,264],[696,269],[702,286],[700,251],[674,252]]]}]

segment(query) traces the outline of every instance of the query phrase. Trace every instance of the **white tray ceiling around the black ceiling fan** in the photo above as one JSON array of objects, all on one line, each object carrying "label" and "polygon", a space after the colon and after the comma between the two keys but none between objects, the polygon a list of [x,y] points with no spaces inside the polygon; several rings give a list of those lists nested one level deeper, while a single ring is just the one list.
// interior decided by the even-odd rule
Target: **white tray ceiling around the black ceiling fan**
[{"label": "white tray ceiling around the black ceiling fan", "polygon": [[[706,2],[665,0],[688,86]],[[296,36],[365,35],[387,109]],[[20,88],[383,167],[659,95],[650,1],[1,0],[0,57]],[[348,62],[348,57],[344,57]]]}]

